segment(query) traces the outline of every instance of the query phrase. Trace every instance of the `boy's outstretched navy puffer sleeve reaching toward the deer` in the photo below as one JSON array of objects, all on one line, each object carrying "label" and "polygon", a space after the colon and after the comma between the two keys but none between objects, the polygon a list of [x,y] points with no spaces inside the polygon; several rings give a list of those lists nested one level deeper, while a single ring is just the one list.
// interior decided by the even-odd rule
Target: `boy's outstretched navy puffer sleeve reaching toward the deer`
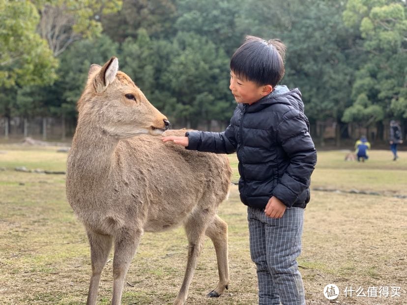
[{"label": "boy's outstretched navy puffer sleeve reaching toward the deer", "polygon": [[224,132],[212,133],[204,131],[188,131],[186,149],[217,154],[231,154],[236,151],[236,139],[234,138],[233,126],[229,125]]}]

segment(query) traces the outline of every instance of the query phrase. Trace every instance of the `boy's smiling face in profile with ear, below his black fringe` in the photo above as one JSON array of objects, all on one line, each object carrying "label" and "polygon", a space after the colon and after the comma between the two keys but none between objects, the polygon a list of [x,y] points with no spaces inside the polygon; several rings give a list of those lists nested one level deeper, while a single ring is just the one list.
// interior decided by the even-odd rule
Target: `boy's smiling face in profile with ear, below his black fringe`
[{"label": "boy's smiling face in profile with ear, below his black fringe", "polygon": [[269,94],[273,87],[271,85],[259,86],[257,83],[239,78],[231,71],[231,85],[229,89],[231,89],[237,103],[251,105]]}]

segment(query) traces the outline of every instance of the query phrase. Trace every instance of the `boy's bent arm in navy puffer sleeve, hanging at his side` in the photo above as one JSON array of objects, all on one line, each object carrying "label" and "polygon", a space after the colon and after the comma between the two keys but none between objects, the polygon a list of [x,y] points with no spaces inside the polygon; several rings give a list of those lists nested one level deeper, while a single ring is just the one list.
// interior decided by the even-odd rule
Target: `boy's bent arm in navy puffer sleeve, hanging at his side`
[{"label": "boy's bent arm in navy puffer sleeve, hanging at his side", "polygon": [[317,150],[309,134],[306,116],[298,111],[285,113],[277,127],[277,141],[290,164],[273,195],[291,207],[298,195],[309,187],[308,181],[317,163]]}]

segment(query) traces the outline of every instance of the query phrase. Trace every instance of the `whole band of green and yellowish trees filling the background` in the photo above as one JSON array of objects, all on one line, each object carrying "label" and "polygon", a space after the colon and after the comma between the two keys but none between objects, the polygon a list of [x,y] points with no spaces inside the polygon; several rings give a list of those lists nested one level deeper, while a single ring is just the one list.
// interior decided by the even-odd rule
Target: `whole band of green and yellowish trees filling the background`
[{"label": "whole band of green and yellowish trees filling the background", "polygon": [[116,55],[176,126],[224,125],[235,107],[230,56],[256,35],[287,45],[281,83],[301,90],[311,123],[407,118],[402,0],[0,0],[0,9],[2,114],[74,122],[89,65]]}]

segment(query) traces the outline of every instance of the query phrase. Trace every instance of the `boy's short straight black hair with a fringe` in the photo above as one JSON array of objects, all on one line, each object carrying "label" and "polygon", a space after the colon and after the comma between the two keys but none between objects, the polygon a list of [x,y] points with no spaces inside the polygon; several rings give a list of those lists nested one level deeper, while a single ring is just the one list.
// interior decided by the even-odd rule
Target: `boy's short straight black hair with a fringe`
[{"label": "boy's short straight black hair with a fringe", "polygon": [[276,86],[284,76],[286,46],[278,39],[264,40],[246,36],[245,42],[231,58],[231,71],[258,85]]}]

